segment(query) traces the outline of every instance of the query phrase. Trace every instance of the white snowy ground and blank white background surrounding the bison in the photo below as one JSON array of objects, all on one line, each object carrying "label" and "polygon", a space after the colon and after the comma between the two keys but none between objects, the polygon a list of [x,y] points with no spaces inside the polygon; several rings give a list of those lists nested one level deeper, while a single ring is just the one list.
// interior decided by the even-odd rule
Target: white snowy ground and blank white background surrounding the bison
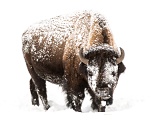
[{"label": "white snowy ground and blank white background surrounding the bison", "polygon": [[[21,35],[32,23],[77,10],[106,16],[127,69],[105,113],[83,113],[65,106],[59,86],[48,83],[51,108],[31,105],[29,74],[21,51]],[[0,2],[0,124],[160,124],[160,8],[158,0],[5,0]]]}]

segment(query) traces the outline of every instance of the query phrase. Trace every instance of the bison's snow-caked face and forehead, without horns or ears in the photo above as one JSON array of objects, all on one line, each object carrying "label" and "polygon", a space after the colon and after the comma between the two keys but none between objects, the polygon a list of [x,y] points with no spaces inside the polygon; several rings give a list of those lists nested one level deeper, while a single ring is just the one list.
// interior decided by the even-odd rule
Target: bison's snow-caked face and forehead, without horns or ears
[{"label": "bison's snow-caked face and forehead, without horns or ears", "polygon": [[88,84],[100,98],[110,98],[118,81],[118,53],[109,45],[92,46],[84,53],[87,65]]}]

